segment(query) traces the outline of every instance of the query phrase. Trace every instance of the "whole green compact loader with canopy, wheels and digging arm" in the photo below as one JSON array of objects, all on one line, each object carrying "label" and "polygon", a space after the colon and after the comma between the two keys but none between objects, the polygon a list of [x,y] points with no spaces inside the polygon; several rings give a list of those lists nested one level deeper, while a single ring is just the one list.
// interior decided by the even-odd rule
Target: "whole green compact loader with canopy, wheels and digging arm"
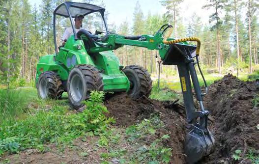
[{"label": "whole green compact loader with canopy, wheels and digging arm", "polygon": [[[68,93],[72,107],[79,109],[93,90],[104,92],[127,92],[134,98],[148,97],[152,89],[150,75],[137,65],[122,66],[113,50],[123,45],[156,50],[165,65],[177,65],[184,98],[186,118],[189,124],[185,137],[184,153],[189,164],[197,163],[213,151],[214,138],[207,128],[208,110],[203,108],[202,96],[207,85],[199,65],[201,42],[196,37],[170,38],[171,25],[163,25],[154,35],[123,36],[108,30],[105,9],[96,5],[78,2],[63,2],[54,11],[55,54],[39,59],[36,72],[36,87],[42,99],[59,99]],[[81,29],[76,32],[73,18],[76,15],[94,14],[101,20],[96,26],[100,30]],[[57,46],[56,18],[68,18],[73,29],[64,46]],[[86,23],[87,25],[87,23]],[[196,41],[197,46],[187,43]],[[205,83],[201,92],[195,65],[197,64]],[[200,109],[195,109],[192,85]]]}]

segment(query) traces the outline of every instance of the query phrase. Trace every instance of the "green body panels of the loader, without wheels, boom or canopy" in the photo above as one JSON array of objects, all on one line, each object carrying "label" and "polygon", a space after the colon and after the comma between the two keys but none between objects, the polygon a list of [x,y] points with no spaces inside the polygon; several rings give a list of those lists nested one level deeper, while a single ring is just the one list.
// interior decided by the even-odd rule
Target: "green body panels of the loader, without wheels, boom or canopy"
[{"label": "green body panels of the loader, without wheels, boom or canopy", "polygon": [[104,91],[128,91],[130,88],[129,80],[121,70],[123,66],[113,51],[89,55],[83,40],[75,40],[74,35],[68,38],[64,47],[60,48],[58,55],[45,55],[40,58],[37,64],[36,83],[39,75],[45,71],[55,71],[62,81],[67,81],[69,71],[78,64],[90,64],[101,71]]}]

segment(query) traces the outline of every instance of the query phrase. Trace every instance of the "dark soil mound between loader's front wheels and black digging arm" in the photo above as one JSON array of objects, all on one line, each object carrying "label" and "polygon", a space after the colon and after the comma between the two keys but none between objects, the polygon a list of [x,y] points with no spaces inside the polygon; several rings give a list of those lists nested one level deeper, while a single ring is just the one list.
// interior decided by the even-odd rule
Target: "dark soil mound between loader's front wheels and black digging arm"
[{"label": "dark soil mound between loader's front wheels and black digging arm", "polygon": [[183,143],[185,137],[184,107],[172,102],[160,102],[148,98],[132,99],[126,94],[115,95],[105,101],[108,116],[116,119],[117,126],[130,126],[149,119],[152,114],[160,114],[166,128],[156,132],[157,138],[170,134],[165,146],[173,148],[173,164],[184,164]]}]

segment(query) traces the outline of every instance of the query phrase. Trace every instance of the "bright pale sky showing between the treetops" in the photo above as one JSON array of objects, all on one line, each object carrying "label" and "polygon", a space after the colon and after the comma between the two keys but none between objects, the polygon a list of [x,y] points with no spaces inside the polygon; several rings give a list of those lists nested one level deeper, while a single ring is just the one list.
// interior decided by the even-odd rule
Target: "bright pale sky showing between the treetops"
[{"label": "bright pale sky showing between the treetops", "polygon": [[[80,1],[80,0],[74,0]],[[99,0],[101,1],[101,0]],[[103,0],[106,5],[106,11],[109,12],[108,24],[115,24],[117,27],[126,19],[132,26],[133,13],[138,0]],[[144,16],[150,12],[151,14],[163,14],[166,8],[161,5],[160,0],[139,0]],[[182,11],[184,23],[188,24],[188,18],[196,12],[201,17],[202,24],[208,24],[208,16],[211,10],[207,11],[201,7],[206,4],[207,0],[184,0],[180,8]],[[31,5],[40,4],[41,0],[29,0]]]}]

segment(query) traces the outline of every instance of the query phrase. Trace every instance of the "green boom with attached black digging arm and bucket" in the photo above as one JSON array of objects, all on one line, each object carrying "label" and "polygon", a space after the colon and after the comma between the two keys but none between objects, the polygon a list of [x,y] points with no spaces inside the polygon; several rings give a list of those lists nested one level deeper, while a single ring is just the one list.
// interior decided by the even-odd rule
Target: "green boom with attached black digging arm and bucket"
[{"label": "green boom with attached black digging arm and bucket", "polygon": [[[164,30],[162,31],[162,28]],[[207,119],[209,112],[204,109],[202,104],[201,87],[195,70],[195,64],[199,65],[199,54],[201,42],[196,37],[188,37],[182,39],[169,38],[173,28],[170,25],[161,27],[156,34],[141,35],[135,37],[127,37],[108,33],[103,38],[91,38],[95,43],[95,47],[91,47],[89,53],[98,53],[102,51],[115,50],[123,45],[144,47],[149,50],[158,50],[159,55],[165,65],[177,65],[179,78],[182,87],[182,94],[186,110],[187,122],[189,123],[189,133],[185,138],[185,154],[187,155],[187,163],[195,163],[203,156],[209,155],[213,151],[214,138],[207,129]],[[167,30],[168,29],[168,30]],[[164,35],[165,31],[168,31]],[[165,37],[164,37],[165,36]],[[197,47],[189,45],[187,41],[196,41]],[[196,61],[194,59],[196,57]],[[205,83],[206,92],[207,85]],[[191,77],[191,78],[190,78]],[[194,106],[191,79],[196,93],[196,99],[200,103],[200,110],[197,111]]]}]

